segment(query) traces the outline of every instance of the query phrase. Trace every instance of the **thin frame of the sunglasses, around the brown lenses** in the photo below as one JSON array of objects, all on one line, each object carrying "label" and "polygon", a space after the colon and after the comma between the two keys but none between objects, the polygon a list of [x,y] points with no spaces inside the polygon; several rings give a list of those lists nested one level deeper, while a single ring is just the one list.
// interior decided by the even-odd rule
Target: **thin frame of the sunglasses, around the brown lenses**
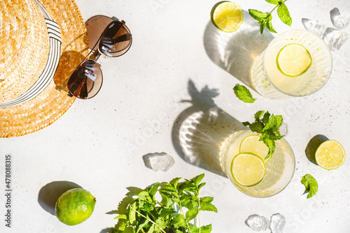
[{"label": "thin frame of the sunglasses, around the brown lenses", "polygon": [[[99,57],[103,54],[104,56],[106,57],[120,57],[122,56],[123,54],[125,54],[128,50],[130,50],[130,47],[132,46],[132,33],[130,31],[130,29],[126,26],[125,24],[125,21],[124,20],[118,20],[118,18],[116,17],[112,17],[111,18],[113,21],[110,22],[106,28],[104,29],[104,31],[101,33],[101,36],[99,36],[99,39],[97,40],[97,43],[94,45],[94,47],[92,48],[92,50],[89,52],[89,54],[87,54],[87,56],[83,59],[83,61],[80,62],[80,64],[73,70],[73,73],[76,73],[77,70],[81,69],[81,66],[83,65],[83,63],[86,63],[87,61],[92,61],[94,63],[96,63],[99,68],[99,71],[101,72],[101,84],[99,85],[99,89],[96,91],[96,93],[94,93],[94,95],[92,96],[88,96],[87,98],[80,98],[78,96],[75,96],[70,89],[68,89],[68,96],[75,96],[76,98],[80,98],[80,99],[83,99],[83,100],[86,100],[86,99],[90,99],[94,96],[97,95],[97,93],[99,93],[99,90],[101,89],[102,87],[102,84],[103,84],[103,73],[102,73],[102,68],[101,68],[101,65],[97,62],[97,60],[99,59]],[[102,41],[102,38],[103,36],[105,36],[106,34],[106,31],[108,31],[109,29],[111,29],[111,27],[114,26],[114,24],[121,24],[121,27],[123,27],[125,29],[125,31],[127,31],[127,34],[130,35],[130,38],[128,40],[130,40],[130,45],[128,45],[128,47],[126,48],[126,50],[122,53],[122,54],[119,54],[118,56],[109,56],[109,54],[106,54],[105,52],[101,52],[99,50],[99,44],[101,43]],[[118,32],[118,31],[117,31]],[[123,40],[123,41],[126,41],[126,40]],[[69,77],[68,81],[67,81],[67,87],[68,87],[68,83],[69,83],[69,80],[71,80],[72,78],[72,75],[73,73],[71,73],[71,76]]]}]

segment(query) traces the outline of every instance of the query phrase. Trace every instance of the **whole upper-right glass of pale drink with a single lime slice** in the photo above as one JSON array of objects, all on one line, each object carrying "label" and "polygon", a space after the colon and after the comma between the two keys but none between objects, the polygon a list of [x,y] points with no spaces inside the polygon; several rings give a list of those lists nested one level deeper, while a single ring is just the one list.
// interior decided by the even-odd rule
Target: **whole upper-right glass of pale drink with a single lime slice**
[{"label": "whole upper-right glass of pale drink with a single lime slice", "polygon": [[332,72],[332,55],[325,42],[305,30],[279,34],[257,57],[251,84],[266,98],[307,96],[321,89]]}]

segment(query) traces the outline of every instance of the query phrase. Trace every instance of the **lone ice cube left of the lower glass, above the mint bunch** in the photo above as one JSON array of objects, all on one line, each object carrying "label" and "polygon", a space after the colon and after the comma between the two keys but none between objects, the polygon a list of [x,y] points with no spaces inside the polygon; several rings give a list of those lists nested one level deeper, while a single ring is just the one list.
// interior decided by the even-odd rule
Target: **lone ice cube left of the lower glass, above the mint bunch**
[{"label": "lone ice cube left of the lower glass, above the mint bunch", "polygon": [[142,158],[144,159],[145,166],[155,172],[167,172],[175,164],[174,158],[165,152],[148,153],[142,156]]}]

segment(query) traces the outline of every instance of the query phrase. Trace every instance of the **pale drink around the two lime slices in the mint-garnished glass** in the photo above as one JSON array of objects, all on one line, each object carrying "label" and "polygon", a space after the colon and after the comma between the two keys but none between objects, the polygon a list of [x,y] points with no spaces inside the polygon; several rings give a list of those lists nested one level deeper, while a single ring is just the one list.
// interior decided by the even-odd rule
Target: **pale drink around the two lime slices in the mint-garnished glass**
[{"label": "pale drink around the two lime slices in the mint-garnished glass", "polygon": [[228,137],[221,145],[219,160],[223,172],[227,174],[232,183],[246,195],[253,197],[270,197],[281,192],[293,177],[295,170],[295,157],[293,150],[284,139],[276,141],[276,149],[272,158],[265,163],[265,176],[255,186],[241,186],[232,176],[232,160],[241,151],[239,146],[244,138],[249,135],[256,135],[250,130],[242,130]]}]

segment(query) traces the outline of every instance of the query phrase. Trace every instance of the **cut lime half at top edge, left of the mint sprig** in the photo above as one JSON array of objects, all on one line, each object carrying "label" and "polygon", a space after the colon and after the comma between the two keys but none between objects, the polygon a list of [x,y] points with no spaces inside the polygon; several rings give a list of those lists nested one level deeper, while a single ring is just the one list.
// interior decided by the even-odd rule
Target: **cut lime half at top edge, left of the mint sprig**
[{"label": "cut lime half at top edge, left of the mint sprig", "polygon": [[223,1],[214,6],[211,20],[221,31],[236,31],[243,21],[243,12],[241,8],[233,2]]}]

